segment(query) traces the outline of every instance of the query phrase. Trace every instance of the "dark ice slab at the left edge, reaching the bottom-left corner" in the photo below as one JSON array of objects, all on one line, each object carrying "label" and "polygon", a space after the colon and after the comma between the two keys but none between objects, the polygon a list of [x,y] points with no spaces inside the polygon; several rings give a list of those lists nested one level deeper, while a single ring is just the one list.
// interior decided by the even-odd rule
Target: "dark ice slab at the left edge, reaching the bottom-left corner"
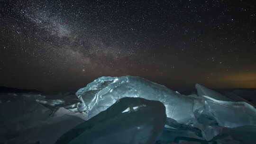
[{"label": "dark ice slab at the left edge, reaching the bottom-left corner", "polygon": [[11,101],[0,105],[0,142],[16,137],[25,129],[46,120],[52,111],[36,101]]}]

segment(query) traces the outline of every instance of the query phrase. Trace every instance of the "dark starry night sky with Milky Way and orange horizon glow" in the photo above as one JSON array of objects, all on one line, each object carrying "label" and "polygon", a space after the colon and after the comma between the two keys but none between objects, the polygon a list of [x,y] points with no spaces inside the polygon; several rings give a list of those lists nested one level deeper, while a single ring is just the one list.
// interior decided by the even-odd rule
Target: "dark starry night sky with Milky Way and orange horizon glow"
[{"label": "dark starry night sky with Milky Way and orange horizon glow", "polygon": [[255,0],[0,0],[0,86],[77,90],[101,76],[256,88]]}]

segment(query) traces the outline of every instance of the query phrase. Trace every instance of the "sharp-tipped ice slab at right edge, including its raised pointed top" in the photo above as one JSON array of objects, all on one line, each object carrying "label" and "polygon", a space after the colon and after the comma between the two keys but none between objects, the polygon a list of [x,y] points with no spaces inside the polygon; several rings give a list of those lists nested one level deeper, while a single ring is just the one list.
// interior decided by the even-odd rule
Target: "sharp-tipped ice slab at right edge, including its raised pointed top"
[{"label": "sharp-tipped ice slab at right edge, including its raised pointed top", "polygon": [[256,125],[256,109],[242,98],[232,99],[196,84],[199,97],[204,98],[204,112],[215,117],[219,126]]}]

